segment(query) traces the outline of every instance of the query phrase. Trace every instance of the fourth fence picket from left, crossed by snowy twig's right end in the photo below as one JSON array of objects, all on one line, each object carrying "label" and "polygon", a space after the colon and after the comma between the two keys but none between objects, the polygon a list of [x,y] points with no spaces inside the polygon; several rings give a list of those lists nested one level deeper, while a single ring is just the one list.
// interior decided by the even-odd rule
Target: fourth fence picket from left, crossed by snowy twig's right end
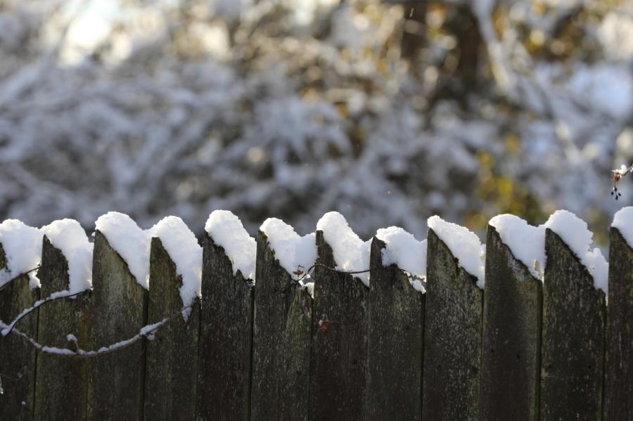
[{"label": "fourth fence picket from left, crossed by snowy twig's right end", "polygon": [[[148,324],[170,318],[184,308],[180,297],[182,277],[160,238],[152,238],[150,252]],[[198,331],[200,300],[188,318],[176,316],[147,342],[146,420],[193,420],[198,383]]]}]

